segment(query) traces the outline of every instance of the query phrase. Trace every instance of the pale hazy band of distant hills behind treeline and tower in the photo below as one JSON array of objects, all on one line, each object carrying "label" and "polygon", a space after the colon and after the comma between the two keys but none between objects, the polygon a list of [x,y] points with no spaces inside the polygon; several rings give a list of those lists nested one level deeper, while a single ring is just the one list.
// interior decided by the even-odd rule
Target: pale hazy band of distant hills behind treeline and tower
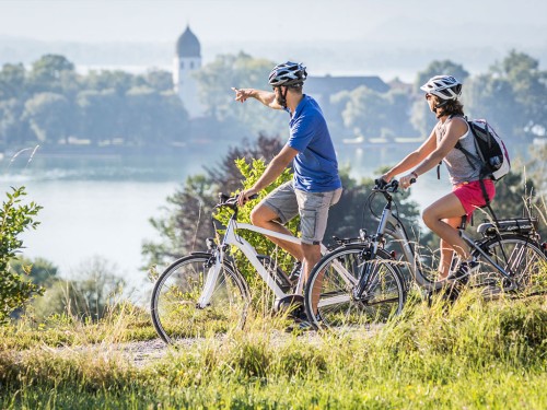
[{"label": "pale hazy band of distant hills behind treeline and tower", "polygon": [[[244,51],[253,57],[272,61],[300,60],[307,65],[311,75],[380,75],[384,81],[399,78],[415,80],[432,60],[451,59],[462,63],[472,73],[488,70],[492,61],[502,59],[510,47],[451,49],[418,49],[403,43],[379,45],[366,42],[280,43],[203,43],[203,62],[219,54]],[[517,47],[547,67],[547,45]],[[170,43],[69,43],[40,42],[24,38],[0,37],[0,65],[23,62],[30,65],[45,54],[59,54],[77,66],[118,68],[135,71],[137,68],[158,67],[170,70],[173,65],[175,40]]]}]

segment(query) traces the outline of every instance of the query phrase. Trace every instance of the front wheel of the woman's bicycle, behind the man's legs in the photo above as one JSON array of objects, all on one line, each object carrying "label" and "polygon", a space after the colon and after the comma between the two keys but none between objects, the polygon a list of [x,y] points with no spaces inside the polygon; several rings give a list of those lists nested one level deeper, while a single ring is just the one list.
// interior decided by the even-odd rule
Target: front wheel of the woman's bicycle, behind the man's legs
[{"label": "front wheel of the woman's bicycle, behind the man's legs", "polygon": [[[369,284],[360,298],[353,295],[360,276],[368,271]],[[325,255],[306,282],[305,308],[321,327],[357,327],[384,323],[403,309],[406,291],[396,261],[379,249],[368,257],[364,245],[348,245]]]}]

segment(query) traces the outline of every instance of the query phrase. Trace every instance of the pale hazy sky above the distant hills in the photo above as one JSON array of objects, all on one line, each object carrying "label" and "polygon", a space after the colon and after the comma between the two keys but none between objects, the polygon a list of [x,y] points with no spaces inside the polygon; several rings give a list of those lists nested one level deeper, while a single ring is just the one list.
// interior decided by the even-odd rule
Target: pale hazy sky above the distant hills
[{"label": "pale hazy sky above the distant hills", "polygon": [[0,0],[0,36],[48,42],[173,42],[189,23],[201,42],[544,47],[546,19],[546,0]]}]

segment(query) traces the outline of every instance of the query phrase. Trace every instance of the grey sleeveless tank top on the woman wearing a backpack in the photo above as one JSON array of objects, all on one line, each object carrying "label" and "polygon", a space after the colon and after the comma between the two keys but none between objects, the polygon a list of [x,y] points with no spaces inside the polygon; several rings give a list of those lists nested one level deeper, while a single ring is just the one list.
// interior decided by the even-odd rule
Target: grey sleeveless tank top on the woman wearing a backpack
[{"label": "grey sleeveless tank top on the woman wearing a backpack", "polygon": [[[452,121],[453,118],[462,118],[462,117],[449,117],[444,124],[439,121],[435,126],[435,136],[437,136],[437,144],[441,142],[446,133],[446,125]],[[457,148],[453,148],[449,154],[443,159],[446,168],[449,169],[450,181],[452,185],[458,185],[462,183],[470,183],[472,180],[478,180],[480,175],[480,162],[476,160],[478,157],[477,148],[475,147],[474,136],[467,125],[467,132],[459,137],[459,144],[470,152],[475,157],[469,159],[472,164],[475,165],[473,167],[469,164],[469,161]]]}]

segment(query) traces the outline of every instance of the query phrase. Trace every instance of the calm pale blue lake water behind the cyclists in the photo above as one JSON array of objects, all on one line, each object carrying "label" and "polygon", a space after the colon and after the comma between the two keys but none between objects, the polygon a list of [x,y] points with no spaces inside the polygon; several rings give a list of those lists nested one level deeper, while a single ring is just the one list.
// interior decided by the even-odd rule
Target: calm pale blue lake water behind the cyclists
[{"label": "calm pale blue lake water behind the cyclists", "polygon": [[[353,177],[377,175],[376,169],[401,159],[410,147],[362,149],[342,145],[341,166]],[[188,175],[201,173],[221,156],[203,153],[189,157],[57,159],[43,157],[39,150],[31,162],[25,152],[10,162],[0,161],[1,194],[10,186],[26,187],[27,198],[44,209],[36,231],[23,236],[24,255],[43,257],[71,277],[94,256],[104,257],[129,283],[146,278],[141,270],[141,244],[159,239],[149,219],[158,216],[165,198]],[[411,197],[421,206],[450,190],[446,171],[441,181],[434,171],[412,187]],[[5,197],[2,198],[2,201]]]}]

